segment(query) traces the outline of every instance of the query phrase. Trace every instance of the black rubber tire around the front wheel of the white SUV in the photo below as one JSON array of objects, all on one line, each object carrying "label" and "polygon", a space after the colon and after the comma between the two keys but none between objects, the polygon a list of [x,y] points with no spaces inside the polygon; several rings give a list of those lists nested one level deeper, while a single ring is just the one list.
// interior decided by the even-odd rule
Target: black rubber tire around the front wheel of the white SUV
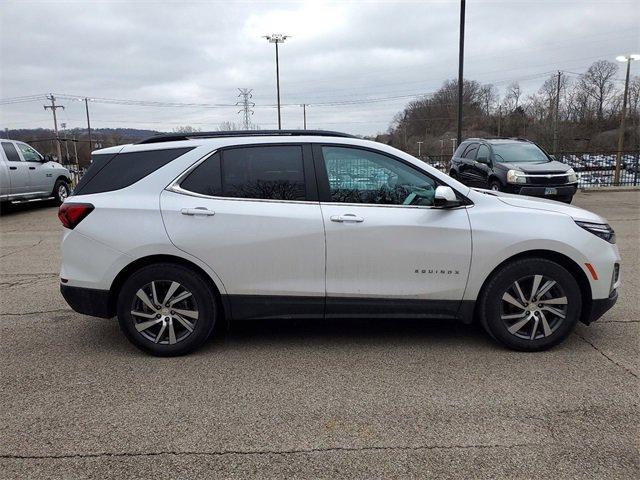
[{"label": "black rubber tire around the front wheel of the white SUV", "polygon": [[[556,284],[550,292],[561,292],[556,293],[556,295],[563,295],[561,298],[566,297],[566,305],[547,305],[546,302],[548,302],[548,300],[542,300],[545,303],[539,304],[537,302],[531,302],[529,305],[526,305],[527,308],[535,308],[540,305],[545,308],[542,309],[542,313],[540,313],[540,311],[538,311],[537,314],[530,312],[531,315],[535,314],[536,316],[531,316],[531,321],[525,323],[521,330],[511,333],[509,328],[514,328],[516,323],[521,320],[524,321],[525,318],[523,316],[517,320],[502,319],[505,307],[515,308],[515,312],[518,314],[518,308],[505,302],[503,295],[505,292],[508,293],[510,291],[509,289],[513,287],[515,282],[519,282],[523,283],[523,286],[520,287],[522,293],[528,296],[533,289],[533,285],[531,288],[527,288],[526,282],[528,279],[532,279],[531,282],[533,283],[536,275],[543,276],[543,279],[555,281]],[[540,286],[542,287],[543,285]],[[546,295],[551,294],[545,293],[543,296]],[[516,295],[513,295],[513,297],[515,298]],[[524,305],[524,302],[522,302],[522,304]],[[549,311],[546,310],[549,306],[552,306],[552,308],[556,310],[565,309],[563,312],[565,315],[564,318],[555,317],[555,315],[549,313]],[[569,336],[580,318],[582,296],[575,278],[563,266],[544,258],[526,258],[508,263],[488,280],[488,283],[480,295],[478,307],[480,323],[491,337],[513,350],[533,352],[551,348]],[[527,310],[523,311],[528,312]],[[528,315],[529,312],[525,316]],[[552,332],[550,334],[545,332],[541,325],[541,315],[545,316],[547,326],[549,326],[552,321],[558,322],[552,324]],[[508,315],[507,312],[505,312],[505,316],[509,317],[513,315]],[[555,319],[551,320],[552,317],[555,317]],[[510,323],[510,327],[508,327],[507,322],[513,323]],[[535,338],[522,338],[522,336],[528,337],[529,334]]]}]

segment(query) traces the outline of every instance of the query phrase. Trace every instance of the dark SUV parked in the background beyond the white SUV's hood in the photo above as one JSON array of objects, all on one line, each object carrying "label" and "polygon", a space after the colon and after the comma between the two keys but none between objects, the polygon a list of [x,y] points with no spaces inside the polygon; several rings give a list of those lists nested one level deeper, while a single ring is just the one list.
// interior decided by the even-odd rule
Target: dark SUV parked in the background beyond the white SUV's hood
[{"label": "dark SUV parked in the background beyond the white SUV's hood", "polygon": [[449,170],[470,186],[571,203],[578,187],[573,169],[520,138],[469,138],[451,158]]}]

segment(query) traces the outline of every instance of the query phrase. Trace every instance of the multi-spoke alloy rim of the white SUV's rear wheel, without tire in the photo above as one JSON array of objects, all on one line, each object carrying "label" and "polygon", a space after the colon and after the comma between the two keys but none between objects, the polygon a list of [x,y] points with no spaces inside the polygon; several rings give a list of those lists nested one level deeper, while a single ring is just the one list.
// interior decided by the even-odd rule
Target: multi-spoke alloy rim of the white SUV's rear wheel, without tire
[{"label": "multi-spoke alloy rim of the white SUV's rear wheel, without tire", "polygon": [[198,305],[178,282],[156,280],[143,286],[131,305],[135,329],[154,343],[173,345],[193,332]]}]

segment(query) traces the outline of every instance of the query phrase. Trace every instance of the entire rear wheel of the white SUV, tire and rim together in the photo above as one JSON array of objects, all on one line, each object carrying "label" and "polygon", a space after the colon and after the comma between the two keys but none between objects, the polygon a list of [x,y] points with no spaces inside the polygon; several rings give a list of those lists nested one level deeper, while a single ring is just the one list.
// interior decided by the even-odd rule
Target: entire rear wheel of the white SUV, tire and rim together
[{"label": "entire rear wheel of the white SUV, tire and rim together", "polygon": [[134,273],[120,290],[117,309],[127,338],[157,356],[197,349],[217,317],[215,296],[205,279],[174,264],[150,265]]}]

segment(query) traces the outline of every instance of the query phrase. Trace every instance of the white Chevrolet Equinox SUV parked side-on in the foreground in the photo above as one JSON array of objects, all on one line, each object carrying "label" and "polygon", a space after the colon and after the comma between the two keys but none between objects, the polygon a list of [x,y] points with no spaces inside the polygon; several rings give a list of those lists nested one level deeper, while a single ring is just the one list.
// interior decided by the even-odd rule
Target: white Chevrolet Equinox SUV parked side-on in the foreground
[{"label": "white Chevrolet Equinox SUV parked side-on in the foreground", "polygon": [[153,137],[94,152],[60,208],[61,291],[155,355],[258,318],[479,320],[542,350],[616,301],[606,221],[473,190],[392,147],[319,131]]}]

